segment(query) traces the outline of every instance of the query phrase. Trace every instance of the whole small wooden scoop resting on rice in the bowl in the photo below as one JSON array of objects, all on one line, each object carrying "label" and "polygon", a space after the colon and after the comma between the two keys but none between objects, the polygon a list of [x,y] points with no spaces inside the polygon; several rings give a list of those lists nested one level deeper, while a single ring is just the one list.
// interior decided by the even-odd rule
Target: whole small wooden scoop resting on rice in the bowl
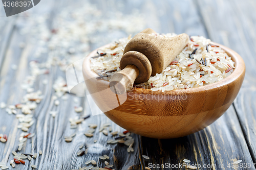
[{"label": "whole small wooden scoop resting on rice in the bowl", "polygon": [[146,82],[151,76],[160,74],[184,49],[189,36],[180,34],[166,38],[153,35],[152,29],[145,29],[127,43],[120,61],[121,71],[110,80],[116,94],[132,89],[134,83]]}]

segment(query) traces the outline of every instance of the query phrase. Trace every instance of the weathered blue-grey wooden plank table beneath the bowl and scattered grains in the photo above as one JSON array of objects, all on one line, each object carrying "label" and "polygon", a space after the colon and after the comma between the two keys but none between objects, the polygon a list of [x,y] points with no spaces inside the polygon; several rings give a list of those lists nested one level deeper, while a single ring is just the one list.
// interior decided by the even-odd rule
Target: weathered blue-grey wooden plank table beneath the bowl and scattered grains
[{"label": "weathered blue-grey wooden plank table beneath the bowl and scattered grains", "polygon": [[[49,28],[55,21],[58,10],[72,4],[88,1],[41,1],[36,7],[30,9],[30,14],[48,12]],[[255,169],[249,167],[228,167],[229,163],[242,160],[243,163],[256,162],[256,1],[253,0],[219,0],[219,1],[90,1],[95,4],[105,18],[111,18],[117,11],[129,15],[137,9],[145,18],[145,28],[150,27],[157,32],[175,32],[177,34],[202,35],[214,42],[224,44],[238,52],[246,63],[246,76],[237,99],[227,112],[209,127],[182,138],[177,139],[152,139],[132,134],[135,139],[134,152],[127,153],[122,144],[107,144],[111,135],[105,136],[98,132],[93,137],[84,136],[88,124],[102,125],[111,123],[104,114],[91,116],[76,129],[70,129],[69,118],[76,115],[91,114],[86,103],[86,98],[77,98],[70,95],[68,100],[60,100],[60,105],[55,106],[52,100],[54,90],[52,85],[57,76],[65,77],[65,72],[53,66],[48,75],[38,76],[34,88],[40,89],[44,99],[33,111],[36,123],[29,129],[36,135],[26,142],[26,147],[21,152],[30,153],[42,150],[42,155],[26,164],[16,165],[16,169],[31,169],[31,164],[36,164],[37,169],[75,169],[84,166],[90,159],[98,161],[98,157],[109,155],[110,164],[115,169],[145,169],[148,163],[153,164],[179,164],[183,159],[189,159],[191,164],[208,165],[200,169]],[[31,43],[31,35],[20,34],[26,24],[25,14],[5,17],[3,7],[0,8],[0,102],[8,105],[19,103],[26,94],[20,84],[29,74],[28,63],[34,59],[36,42]],[[120,32],[120,31],[119,31]],[[107,34],[107,33],[105,33]],[[115,36],[117,35],[117,36]],[[126,34],[112,34],[112,37],[102,39],[100,42],[91,43],[90,50],[105,43],[112,42],[127,36]],[[104,37],[104,34],[102,34]],[[20,48],[19,43],[26,42],[25,48]],[[89,50],[89,51],[90,51]],[[46,54],[47,55],[47,54]],[[39,62],[46,57],[37,59]],[[17,69],[12,65],[16,64]],[[48,79],[47,85],[42,85],[42,80]],[[255,84],[254,84],[255,83]],[[73,102],[78,99],[84,107],[83,113],[76,113]],[[97,109],[97,108],[94,108]],[[49,112],[59,111],[53,118]],[[18,110],[18,114],[20,114]],[[0,162],[9,164],[13,159],[11,151],[16,150],[19,134],[18,120],[15,115],[9,115],[5,109],[0,109],[0,133],[8,135],[6,143],[0,142]],[[123,131],[114,123],[113,130]],[[65,142],[64,136],[76,132],[73,141]],[[94,140],[97,142],[94,143]],[[87,143],[87,155],[77,157],[81,143]],[[150,160],[145,160],[142,155],[147,155]],[[216,167],[215,167],[216,165]],[[99,167],[104,166],[104,161],[98,162]],[[209,167],[210,166],[210,167]],[[9,169],[12,169],[11,167]],[[152,168],[153,169],[153,168]],[[185,169],[185,168],[156,168],[156,169]]]}]

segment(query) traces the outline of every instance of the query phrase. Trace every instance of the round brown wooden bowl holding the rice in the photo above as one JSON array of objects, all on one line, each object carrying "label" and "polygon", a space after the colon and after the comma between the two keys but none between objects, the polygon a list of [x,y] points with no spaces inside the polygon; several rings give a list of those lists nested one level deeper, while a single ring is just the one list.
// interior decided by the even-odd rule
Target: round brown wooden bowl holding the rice
[{"label": "round brown wooden bowl holding the rice", "polygon": [[[235,62],[227,78],[206,86],[173,91],[133,88],[116,95],[109,82],[95,79],[90,53],[83,61],[83,77],[95,103],[106,116],[130,132],[152,138],[177,138],[200,131],[215,122],[236,98],[245,75],[243,59],[218,43]],[[106,47],[108,45],[102,46]]]}]

